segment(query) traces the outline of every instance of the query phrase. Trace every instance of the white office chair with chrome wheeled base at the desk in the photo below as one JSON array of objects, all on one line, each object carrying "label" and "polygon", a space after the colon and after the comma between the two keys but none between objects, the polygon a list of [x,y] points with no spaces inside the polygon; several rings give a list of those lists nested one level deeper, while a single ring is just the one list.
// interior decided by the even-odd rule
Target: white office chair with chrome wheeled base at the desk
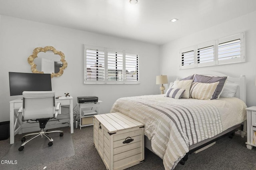
[{"label": "white office chair with chrome wheeled base at the desk", "polygon": [[[24,91],[23,95],[23,107],[19,110],[19,113],[22,112],[22,121],[36,121],[39,122],[40,132],[26,134],[22,138],[22,145],[19,148],[19,151],[24,149],[24,145],[30,140],[38,137],[45,136],[50,140],[48,146],[52,146],[53,139],[48,135],[52,132],[60,132],[60,136],[63,136],[63,131],[54,130],[54,131],[44,131],[44,128],[47,122],[56,118],[60,114],[60,103],[55,105],[55,92],[54,91]],[[29,140],[26,141],[26,136],[35,135]]]}]

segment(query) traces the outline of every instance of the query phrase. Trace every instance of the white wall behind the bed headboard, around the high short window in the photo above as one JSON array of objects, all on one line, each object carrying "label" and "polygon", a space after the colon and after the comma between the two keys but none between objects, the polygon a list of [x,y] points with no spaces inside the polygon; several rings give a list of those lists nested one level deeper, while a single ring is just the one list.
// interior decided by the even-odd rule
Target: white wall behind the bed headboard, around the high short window
[{"label": "white wall behind the bed headboard, around the high short window", "polygon": [[[218,65],[211,67],[202,67],[194,69],[179,70],[179,50],[184,47],[190,47],[199,43],[208,42],[218,38],[223,38],[240,32],[246,32],[246,63],[237,63],[230,65]],[[176,77],[185,77],[192,73],[201,73],[203,71],[218,71],[231,77],[246,75],[246,104],[248,107],[256,105],[256,12],[241,16],[234,20],[216,25],[207,30],[197,32],[190,36],[166,43],[161,46],[160,73],[167,74],[169,82],[174,81]]]}]

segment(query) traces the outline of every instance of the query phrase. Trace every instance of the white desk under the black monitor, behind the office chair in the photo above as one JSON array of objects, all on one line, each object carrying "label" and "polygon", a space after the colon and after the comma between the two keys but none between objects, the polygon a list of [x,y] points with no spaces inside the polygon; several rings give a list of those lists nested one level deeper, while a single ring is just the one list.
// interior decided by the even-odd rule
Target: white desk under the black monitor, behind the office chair
[{"label": "white desk under the black monitor, behind the office chair", "polygon": [[[69,126],[70,126],[70,132],[74,133],[74,126],[73,126],[73,97],[59,97],[55,100],[56,103],[60,102],[62,106],[69,105]],[[37,123],[26,123],[21,121],[21,114],[18,113],[18,109],[22,107],[22,98],[15,99],[13,101],[10,101],[10,144],[14,143],[14,136],[15,134],[19,133],[22,134],[24,132],[33,132],[38,130],[38,124]],[[63,122],[60,121],[60,123],[54,125],[54,127],[47,127],[47,128],[58,128],[58,127],[64,127],[66,125],[63,124]]]}]

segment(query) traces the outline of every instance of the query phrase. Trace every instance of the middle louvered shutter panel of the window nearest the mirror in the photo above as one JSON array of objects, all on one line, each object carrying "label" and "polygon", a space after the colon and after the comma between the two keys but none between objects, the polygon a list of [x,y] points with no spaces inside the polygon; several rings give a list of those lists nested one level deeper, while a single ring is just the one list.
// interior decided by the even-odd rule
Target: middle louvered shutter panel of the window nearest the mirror
[{"label": "middle louvered shutter panel of the window nearest the mirror", "polygon": [[108,81],[123,81],[123,52],[108,51]]}]

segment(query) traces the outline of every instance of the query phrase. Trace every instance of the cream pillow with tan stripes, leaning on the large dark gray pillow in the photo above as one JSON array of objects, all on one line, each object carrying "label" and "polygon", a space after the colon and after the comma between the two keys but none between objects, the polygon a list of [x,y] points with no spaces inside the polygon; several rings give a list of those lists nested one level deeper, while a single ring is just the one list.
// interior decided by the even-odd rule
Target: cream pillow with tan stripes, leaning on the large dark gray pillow
[{"label": "cream pillow with tan stripes, leaning on the large dark gray pillow", "polygon": [[215,83],[193,82],[190,89],[190,97],[193,99],[210,100],[218,84],[219,81]]}]

